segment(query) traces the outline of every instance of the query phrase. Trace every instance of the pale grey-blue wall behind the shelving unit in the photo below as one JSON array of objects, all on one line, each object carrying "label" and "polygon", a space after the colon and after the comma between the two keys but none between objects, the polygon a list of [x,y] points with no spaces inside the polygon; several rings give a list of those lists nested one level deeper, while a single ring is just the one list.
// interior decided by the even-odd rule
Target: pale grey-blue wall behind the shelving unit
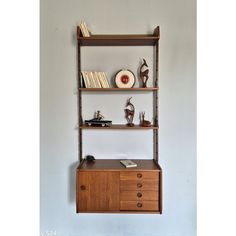
[{"label": "pale grey-blue wall behind the shelving unit", "polygon": [[[93,33],[101,34],[151,33],[157,25],[161,27],[163,215],[75,213],[76,26],[82,19]],[[61,236],[196,235],[195,20],[194,0],[41,0],[41,233],[46,235],[53,230]],[[137,73],[142,57],[152,70],[151,47],[87,47],[82,50],[82,69],[104,70],[112,75],[126,67]],[[145,110],[146,118],[151,119],[152,93],[131,96],[136,110]],[[129,94],[124,92],[96,97],[87,93],[83,96],[83,117],[90,118],[100,109],[114,122],[125,122],[127,97]],[[97,158],[119,158],[124,154],[151,158],[151,134],[86,131],[84,153]],[[113,138],[116,143],[111,141]],[[126,152],[128,146],[132,151]]]}]

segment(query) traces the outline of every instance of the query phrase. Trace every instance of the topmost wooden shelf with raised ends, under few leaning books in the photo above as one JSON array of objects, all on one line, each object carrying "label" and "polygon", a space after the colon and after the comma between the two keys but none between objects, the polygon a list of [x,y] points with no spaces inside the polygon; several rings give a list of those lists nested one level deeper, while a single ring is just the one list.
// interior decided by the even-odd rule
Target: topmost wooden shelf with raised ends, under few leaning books
[{"label": "topmost wooden shelf with raised ends, under few leaning books", "polygon": [[154,30],[154,34],[91,35],[90,37],[82,37],[80,28],[77,27],[77,39],[81,46],[154,46],[159,38],[159,26]]}]

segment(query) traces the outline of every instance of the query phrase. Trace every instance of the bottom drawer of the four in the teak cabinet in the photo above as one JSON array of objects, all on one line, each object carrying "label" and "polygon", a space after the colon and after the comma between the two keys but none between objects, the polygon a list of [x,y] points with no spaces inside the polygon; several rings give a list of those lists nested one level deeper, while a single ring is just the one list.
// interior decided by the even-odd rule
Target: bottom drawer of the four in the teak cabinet
[{"label": "bottom drawer of the four in the teak cabinet", "polygon": [[121,201],[122,211],[158,211],[158,201]]}]

